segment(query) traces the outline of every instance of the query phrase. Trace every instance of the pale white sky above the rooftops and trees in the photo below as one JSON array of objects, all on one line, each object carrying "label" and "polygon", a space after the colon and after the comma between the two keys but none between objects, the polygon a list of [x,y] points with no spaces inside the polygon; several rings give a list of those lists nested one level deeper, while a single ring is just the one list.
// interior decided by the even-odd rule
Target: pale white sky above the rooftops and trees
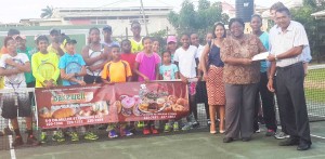
[{"label": "pale white sky above the rooftops and trees", "polygon": [[[139,1],[139,2],[136,2]],[[143,0],[143,5],[171,5],[176,11],[180,10],[183,0]],[[196,2],[198,0],[191,0]],[[211,2],[219,0],[210,0]],[[235,0],[221,0],[235,3]],[[261,6],[271,6],[276,1],[288,0],[255,0]],[[39,18],[41,9],[47,5],[53,8],[110,8],[126,4],[139,4],[140,0],[3,0],[0,10],[0,23],[18,23],[22,18]]]}]

